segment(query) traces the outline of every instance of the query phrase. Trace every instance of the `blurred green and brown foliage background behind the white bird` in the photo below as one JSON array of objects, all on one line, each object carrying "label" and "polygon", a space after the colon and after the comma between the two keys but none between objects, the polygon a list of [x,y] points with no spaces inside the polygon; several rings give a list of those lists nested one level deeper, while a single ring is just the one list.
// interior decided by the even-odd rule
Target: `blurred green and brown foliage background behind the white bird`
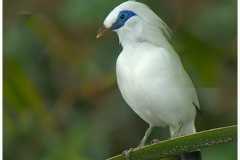
[{"label": "blurred green and brown foliage background behind the white bird", "polygon": [[[117,35],[96,39],[122,2],[3,0],[4,160],[99,160],[138,145],[148,124],[118,90]],[[197,130],[237,124],[237,1],[141,2],[175,34],[204,115]],[[153,138],[169,138],[168,128],[156,128]],[[202,149],[202,156],[237,159],[237,144]]]}]

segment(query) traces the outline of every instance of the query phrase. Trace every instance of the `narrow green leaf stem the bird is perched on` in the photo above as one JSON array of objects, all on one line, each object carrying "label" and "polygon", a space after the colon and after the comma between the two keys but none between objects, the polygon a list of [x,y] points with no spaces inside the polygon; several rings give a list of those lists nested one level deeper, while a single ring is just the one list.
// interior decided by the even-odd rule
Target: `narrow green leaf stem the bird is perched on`
[{"label": "narrow green leaf stem the bird is perched on", "polygon": [[[237,141],[237,126],[228,126],[191,135],[176,137],[142,148],[134,149],[129,156],[131,160],[159,160],[180,153]],[[125,155],[118,155],[108,160],[126,160]]]}]

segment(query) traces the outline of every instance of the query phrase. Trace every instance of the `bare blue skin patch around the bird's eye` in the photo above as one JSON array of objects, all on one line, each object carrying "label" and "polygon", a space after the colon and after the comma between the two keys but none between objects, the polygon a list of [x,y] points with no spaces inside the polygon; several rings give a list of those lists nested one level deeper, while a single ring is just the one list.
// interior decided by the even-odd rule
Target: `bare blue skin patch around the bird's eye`
[{"label": "bare blue skin patch around the bird's eye", "polygon": [[[124,19],[121,19],[121,15],[125,15]],[[135,16],[136,14],[132,11],[121,11],[118,14],[118,19],[117,21],[112,25],[112,27],[110,28],[110,30],[116,30],[121,28],[122,26],[124,26],[125,22],[127,22],[127,20],[129,20],[131,17]]]}]

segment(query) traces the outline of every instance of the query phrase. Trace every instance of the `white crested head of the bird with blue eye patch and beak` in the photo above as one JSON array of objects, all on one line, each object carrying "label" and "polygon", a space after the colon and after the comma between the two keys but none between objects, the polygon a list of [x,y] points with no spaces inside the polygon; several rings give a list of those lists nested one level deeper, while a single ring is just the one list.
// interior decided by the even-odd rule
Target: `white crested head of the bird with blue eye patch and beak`
[{"label": "white crested head of the bird with blue eye patch and beak", "polygon": [[114,8],[98,31],[97,38],[109,31],[117,32],[122,44],[129,41],[156,44],[171,36],[170,29],[151,9],[136,1],[127,1]]}]

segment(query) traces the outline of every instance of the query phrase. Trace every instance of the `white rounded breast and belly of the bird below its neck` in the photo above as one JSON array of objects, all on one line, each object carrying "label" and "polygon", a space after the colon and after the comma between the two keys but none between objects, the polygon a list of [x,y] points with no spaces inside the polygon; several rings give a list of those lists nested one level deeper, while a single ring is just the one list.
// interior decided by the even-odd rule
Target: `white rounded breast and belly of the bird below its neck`
[{"label": "white rounded breast and belly of the bird below its neck", "polygon": [[123,51],[117,60],[117,83],[124,100],[142,119],[157,126],[177,124],[194,112],[188,110],[192,100],[184,86],[184,70],[166,54],[131,50]]}]

